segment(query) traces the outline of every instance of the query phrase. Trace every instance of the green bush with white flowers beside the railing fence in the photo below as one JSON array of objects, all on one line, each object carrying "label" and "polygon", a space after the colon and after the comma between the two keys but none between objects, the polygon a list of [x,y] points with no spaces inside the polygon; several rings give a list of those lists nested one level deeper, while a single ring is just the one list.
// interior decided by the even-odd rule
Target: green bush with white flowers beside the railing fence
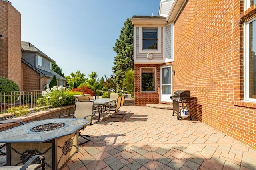
[{"label": "green bush with white flowers beside the railing fence", "polygon": [[64,106],[65,104],[67,104],[67,92],[68,89],[66,87],[63,86],[54,86],[51,89],[46,89],[46,91],[42,92],[42,99],[39,99],[37,101],[38,106],[44,104],[44,106],[48,106],[48,107],[60,107],[60,106]]}]

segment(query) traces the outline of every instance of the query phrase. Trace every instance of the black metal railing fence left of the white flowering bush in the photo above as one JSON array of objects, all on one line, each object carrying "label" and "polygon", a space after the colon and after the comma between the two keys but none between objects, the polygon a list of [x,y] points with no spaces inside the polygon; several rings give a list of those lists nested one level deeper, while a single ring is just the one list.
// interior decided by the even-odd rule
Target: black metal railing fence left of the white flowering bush
[{"label": "black metal railing fence left of the white flowering bush", "polygon": [[18,91],[18,92],[0,92],[0,114],[6,113],[10,107],[28,106],[34,108],[36,101],[42,98],[42,91]]}]

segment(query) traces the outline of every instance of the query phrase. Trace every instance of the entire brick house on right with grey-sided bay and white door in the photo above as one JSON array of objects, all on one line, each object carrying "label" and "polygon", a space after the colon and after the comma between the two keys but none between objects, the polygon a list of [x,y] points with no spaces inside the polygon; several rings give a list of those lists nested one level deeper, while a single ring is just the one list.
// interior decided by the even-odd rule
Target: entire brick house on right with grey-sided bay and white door
[{"label": "entire brick house on right with grey-sided bay and white door", "polygon": [[255,3],[161,0],[133,16],[135,105],[190,90],[192,117],[256,149]]}]

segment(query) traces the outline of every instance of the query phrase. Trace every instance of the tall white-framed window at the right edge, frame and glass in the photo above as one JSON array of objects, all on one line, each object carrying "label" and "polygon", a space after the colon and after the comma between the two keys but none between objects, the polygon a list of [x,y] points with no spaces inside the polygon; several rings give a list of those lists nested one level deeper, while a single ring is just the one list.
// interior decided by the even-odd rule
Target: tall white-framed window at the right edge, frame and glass
[{"label": "tall white-framed window at the right edge, frame and glass", "polygon": [[245,23],[245,100],[256,102],[256,17]]}]

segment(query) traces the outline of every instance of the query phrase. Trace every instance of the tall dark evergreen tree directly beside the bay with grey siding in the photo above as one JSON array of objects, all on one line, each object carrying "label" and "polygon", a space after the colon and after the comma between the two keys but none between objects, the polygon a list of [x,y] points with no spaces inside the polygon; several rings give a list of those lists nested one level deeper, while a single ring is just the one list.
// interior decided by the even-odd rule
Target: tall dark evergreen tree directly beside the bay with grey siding
[{"label": "tall dark evergreen tree directly beside the bay with grey siding", "polygon": [[112,67],[112,72],[115,74],[115,82],[118,86],[122,86],[125,72],[127,70],[134,70],[133,61],[133,26],[132,21],[127,18],[124,22],[124,27],[122,27],[119,35],[119,39],[116,39],[114,51],[117,56],[114,57],[114,67]]}]

